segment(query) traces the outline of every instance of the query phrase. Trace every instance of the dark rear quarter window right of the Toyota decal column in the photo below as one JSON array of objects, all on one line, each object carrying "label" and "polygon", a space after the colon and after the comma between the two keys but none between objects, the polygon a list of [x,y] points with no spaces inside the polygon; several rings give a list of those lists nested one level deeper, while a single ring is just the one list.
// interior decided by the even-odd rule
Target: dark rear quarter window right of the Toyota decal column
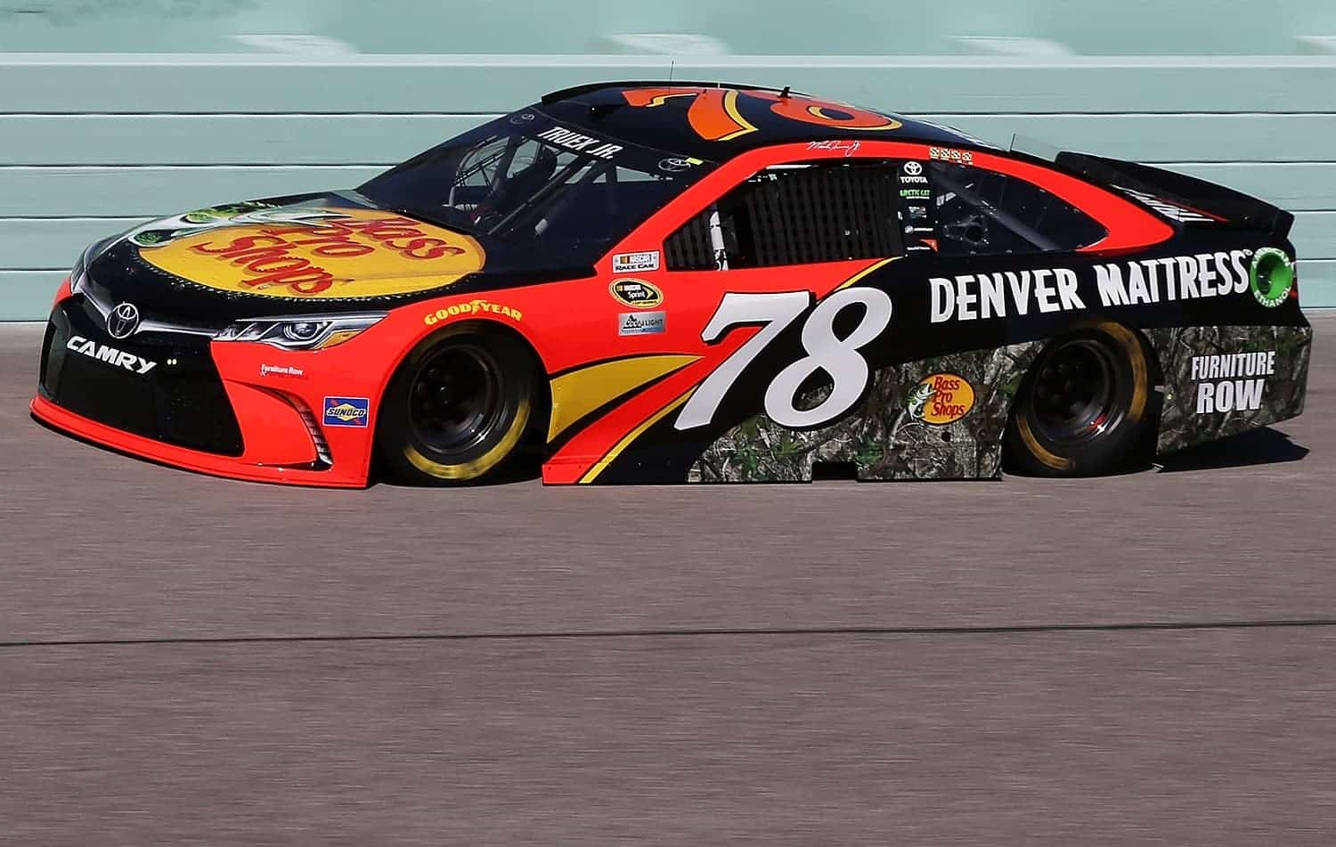
[{"label": "dark rear quarter window right of the Toyota decal column", "polygon": [[947,162],[930,168],[943,255],[1066,252],[1108,235],[1089,215],[1023,179]]}]

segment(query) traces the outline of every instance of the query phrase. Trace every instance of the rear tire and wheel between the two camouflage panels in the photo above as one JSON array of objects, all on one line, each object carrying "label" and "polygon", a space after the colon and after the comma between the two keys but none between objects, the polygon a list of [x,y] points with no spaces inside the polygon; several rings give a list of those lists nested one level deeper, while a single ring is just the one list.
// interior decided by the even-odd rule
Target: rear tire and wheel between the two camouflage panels
[{"label": "rear tire and wheel between the two camouflage panels", "polygon": [[1002,440],[1005,466],[1092,477],[1129,466],[1152,425],[1150,362],[1133,330],[1082,323],[1053,339],[1021,381]]}]

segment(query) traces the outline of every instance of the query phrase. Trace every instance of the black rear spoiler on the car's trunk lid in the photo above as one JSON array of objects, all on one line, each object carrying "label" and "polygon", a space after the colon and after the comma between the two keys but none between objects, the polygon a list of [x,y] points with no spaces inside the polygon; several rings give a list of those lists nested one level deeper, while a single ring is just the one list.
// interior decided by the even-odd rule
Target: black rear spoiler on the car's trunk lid
[{"label": "black rear spoiler on the car's trunk lid", "polygon": [[1264,230],[1280,239],[1288,238],[1295,224],[1295,216],[1283,208],[1196,176],[1082,152],[1061,152],[1057,163],[1090,182],[1120,188],[1181,223],[1216,220]]}]

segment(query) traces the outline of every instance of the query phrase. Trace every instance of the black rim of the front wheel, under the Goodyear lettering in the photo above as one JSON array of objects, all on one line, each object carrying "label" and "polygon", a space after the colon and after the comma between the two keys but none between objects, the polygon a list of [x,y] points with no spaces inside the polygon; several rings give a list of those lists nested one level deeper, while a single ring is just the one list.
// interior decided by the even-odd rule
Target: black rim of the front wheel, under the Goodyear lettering
[{"label": "black rim of the front wheel, under the Goodyear lettering", "polygon": [[505,415],[501,369],[473,343],[434,351],[409,386],[409,426],[417,442],[442,457],[482,444]]}]

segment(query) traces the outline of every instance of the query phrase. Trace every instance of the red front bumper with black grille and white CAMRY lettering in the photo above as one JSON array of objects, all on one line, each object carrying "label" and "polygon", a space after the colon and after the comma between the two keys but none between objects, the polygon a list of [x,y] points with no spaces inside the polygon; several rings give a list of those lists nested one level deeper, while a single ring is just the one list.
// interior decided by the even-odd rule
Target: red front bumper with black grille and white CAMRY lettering
[{"label": "red front bumper with black grille and white CAMRY lettering", "polygon": [[379,395],[379,374],[366,375],[355,355],[339,347],[293,353],[178,333],[143,331],[118,341],[67,285],[47,326],[29,409],[87,441],[187,470],[365,488],[374,405],[367,401],[355,426],[337,418],[326,426],[318,417],[331,395]]}]

